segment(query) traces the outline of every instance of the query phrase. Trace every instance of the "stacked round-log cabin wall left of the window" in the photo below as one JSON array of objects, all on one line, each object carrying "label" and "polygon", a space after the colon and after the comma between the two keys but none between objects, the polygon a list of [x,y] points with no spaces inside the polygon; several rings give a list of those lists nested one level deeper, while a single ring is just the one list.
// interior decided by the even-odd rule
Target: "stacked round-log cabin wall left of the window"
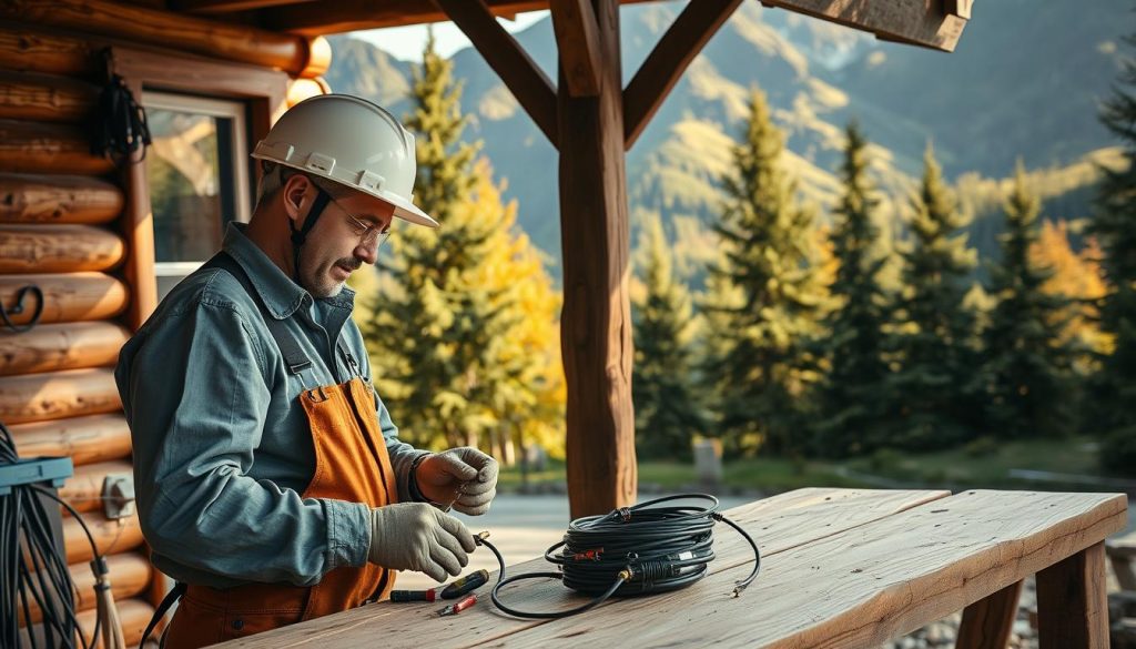
[{"label": "stacked round-log cabin wall left of the window", "polygon": [[[20,457],[70,456],[75,475],[60,497],[107,556],[126,641],[136,643],[154,572],[137,516],[112,521],[102,506],[103,480],[132,473],[114,381],[132,294],[122,275],[127,195],[115,166],[90,150],[100,67],[83,39],[0,27],[0,306],[16,327],[0,322],[0,422]],[[89,635],[94,549],[75,517],[62,532]]]}]

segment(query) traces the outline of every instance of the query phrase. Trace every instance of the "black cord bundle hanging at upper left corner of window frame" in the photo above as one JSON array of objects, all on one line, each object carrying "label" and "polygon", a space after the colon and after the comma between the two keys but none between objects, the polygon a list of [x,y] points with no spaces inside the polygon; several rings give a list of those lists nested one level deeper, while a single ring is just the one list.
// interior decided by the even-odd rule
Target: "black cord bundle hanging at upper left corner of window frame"
[{"label": "black cord bundle hanging at upper left corner of window frame", "polygon": [[[115,74],[110,48],[102,50],[102,57],[107,82],[95,103],[91,125],[91,152],[112,160],[116,165],[124,160],[140,163],[145,159],[145,148],[150,145],[145,110],[134,100],[123,77]],[[141,155],[135,159],[137,151]]]}]

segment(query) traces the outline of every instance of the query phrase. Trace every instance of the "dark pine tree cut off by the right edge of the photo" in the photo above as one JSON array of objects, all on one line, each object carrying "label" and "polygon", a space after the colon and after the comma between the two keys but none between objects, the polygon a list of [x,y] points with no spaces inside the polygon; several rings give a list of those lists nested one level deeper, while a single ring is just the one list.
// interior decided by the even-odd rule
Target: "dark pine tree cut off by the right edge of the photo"
[{"label": "dark pine tree cut off by the right edge of the photo", "polygon": [[[1127,43],[1136,44],[1129,36]],[[1125,60],[1120,83],[1136,86],[1136,60]],[[1124,169],[1103,168],[1091,231],[1103,251],[1108,294],[1101,302],[1101,330],[1112,338],[1112,352],[1101,360],[1093,381],[1092,427],[1102,434],[1102,464],[1136,473],[1136,94],[1113,91],[1101,122],[1124,143]]]}]

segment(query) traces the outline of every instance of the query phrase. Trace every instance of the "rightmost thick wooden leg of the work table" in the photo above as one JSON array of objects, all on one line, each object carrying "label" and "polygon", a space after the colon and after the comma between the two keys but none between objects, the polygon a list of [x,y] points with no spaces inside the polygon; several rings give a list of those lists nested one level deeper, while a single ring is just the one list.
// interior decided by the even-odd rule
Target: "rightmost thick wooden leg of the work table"
[{"label": "rightmost thick wooden leg of the work table", "polygon": [[1108,648],[1103,541],[1037,573],[1037,626],[1042,649]]}]

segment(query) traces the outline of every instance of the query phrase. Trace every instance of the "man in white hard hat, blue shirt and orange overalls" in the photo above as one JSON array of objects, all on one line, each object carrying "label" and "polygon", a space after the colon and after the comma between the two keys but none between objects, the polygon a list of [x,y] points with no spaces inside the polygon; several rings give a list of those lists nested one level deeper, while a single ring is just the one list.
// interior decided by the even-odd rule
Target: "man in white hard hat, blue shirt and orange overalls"
[{"label": "man in white hard hat, blue shirt and orange overalls", "polygon": [[343,284],[393,219],[437,227],[411,202],[412,135],[331,94],[289,110],[252,156],[252,219],[162,300],[115,373],[142,531],[178,582],[169,602],[184,592],[172,648],[359,606],[395,569],[457,575],[475,542],[445,511],[483,514],[496,493],[498,464],[477,449],[399,441],[350,317]]}]

